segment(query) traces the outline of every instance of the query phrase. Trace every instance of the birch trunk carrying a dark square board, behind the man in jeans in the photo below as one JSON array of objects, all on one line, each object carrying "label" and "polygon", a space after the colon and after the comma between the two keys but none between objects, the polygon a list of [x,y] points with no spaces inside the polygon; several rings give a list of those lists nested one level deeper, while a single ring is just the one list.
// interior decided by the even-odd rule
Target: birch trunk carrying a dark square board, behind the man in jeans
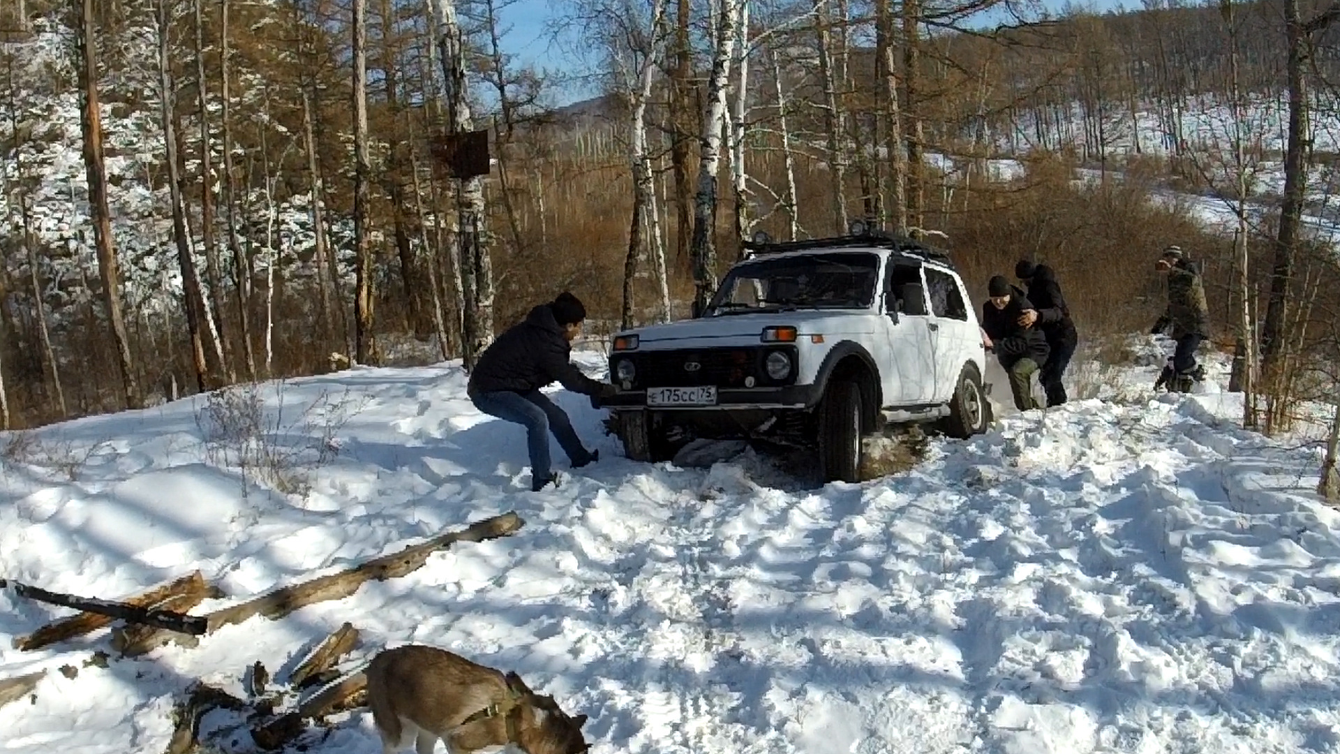
[{"label": "birch trunk carrying a dark square board, behind the man in jeans", "polygon": [[[454,0],[437,0],[437,44],[442,56],[450,133],[464,134],[474,125],[465,78],[465,43],[456,20]],[[493,342],[493,263],[488,248],[484,181],[478,176],[460,181],[456,209],[465,295],[465,368],[472,369],[474,360]]]}]

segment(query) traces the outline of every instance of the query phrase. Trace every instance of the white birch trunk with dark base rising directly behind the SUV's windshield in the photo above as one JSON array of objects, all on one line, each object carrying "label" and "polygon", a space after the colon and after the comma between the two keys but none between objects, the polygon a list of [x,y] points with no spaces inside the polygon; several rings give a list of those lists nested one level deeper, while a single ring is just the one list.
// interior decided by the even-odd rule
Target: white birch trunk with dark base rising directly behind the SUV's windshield
[{"label": "white birch trunk with dark base rising directly behind the SUV's windshield", "polygon": [[698,195],[694,200],[691,250],[695,317],[717,292],[717,166],[721,162],[721,130],[726,119],[730,58],[744,3],[745,0],[721,0],[718,16],[713,21],[717,48],[713,51],[712,75],[708,79],[709,107],[702,118]]}]

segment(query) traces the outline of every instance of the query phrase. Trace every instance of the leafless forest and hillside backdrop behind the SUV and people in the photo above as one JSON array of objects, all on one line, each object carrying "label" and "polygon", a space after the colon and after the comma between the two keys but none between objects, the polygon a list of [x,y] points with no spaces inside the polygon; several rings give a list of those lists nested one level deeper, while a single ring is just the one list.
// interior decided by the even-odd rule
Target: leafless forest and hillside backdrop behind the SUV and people
[{"label": "leafless forest and hillside backdrop behind the SUV and people", "polygon": [[740,239],[852,217],[974,297],[1048,262],[1088,341],[1148,329],[1177,243],[1268,428],[1335,394],[1340,5],[551,11],[565,67],[517,62],[508,0],[5,3],[4,428],[469,365],[561,290],[596,337],[686,317]]}]

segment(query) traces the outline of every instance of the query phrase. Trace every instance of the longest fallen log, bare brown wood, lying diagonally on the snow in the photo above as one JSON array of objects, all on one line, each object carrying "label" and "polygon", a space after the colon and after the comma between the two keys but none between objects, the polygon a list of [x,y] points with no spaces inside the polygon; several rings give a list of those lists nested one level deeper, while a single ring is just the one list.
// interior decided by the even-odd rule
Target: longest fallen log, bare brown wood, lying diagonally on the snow
[{"label": "longest fallen log, bare brown wood, lying diagonally on the snow", "polygon": [[[458,531],[448,531],[446,534],[434,537],[427,542],[410,545],[398,553],[373,558],[354,568],[322,576],[311,581],[304,581],[291,586],[281,586],[273,592],[248,600],[247,602],[222,608],[209,613],[208,616],[193,620],[205,623],[205,629],[201,633],[214,633],[225,625],[243,623],[253,616],[264,616],[271,620],[284,617],[288,613],[307,605],[348,597],[350,594],[358,592],[366,581],[385,581],[387,578],[399,578],[407,573],[413,573],[427,562],[429,555],[446,549],[456,542],[484,542],[486,539],[497,539],[498,537],[515,534],[524,525],[525,522],[516,513],[505,513],[503,515],[486,518]],[[163,631],[153,632],[145,636],[139,643],[137,643],[135,647],[130,648],[133,649],[131,652],[125,652],[125,656],[129,657],[134,653],[142,653],[141,649],[147,651],[145,647],[153,648],[163,644],[165,641],[177,641],[181,639],[182,633],[198,636],[198,633],[192,631],[177,631],[172,627],[159,628],[163,628]]]}]

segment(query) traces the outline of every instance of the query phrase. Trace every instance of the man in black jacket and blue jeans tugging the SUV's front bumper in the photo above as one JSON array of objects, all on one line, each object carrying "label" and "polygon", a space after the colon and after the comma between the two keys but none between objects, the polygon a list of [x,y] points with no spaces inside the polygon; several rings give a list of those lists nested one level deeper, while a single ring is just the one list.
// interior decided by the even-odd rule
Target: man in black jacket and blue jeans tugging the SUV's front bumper
[{"label": "man in black jacket and blue jeans tugging the SUV's front bumper", "polygon": [[572,468],[599,460],[599,451],[587,451],[572,429],[567,412],[540,392],[551,382],[591,397],[610,397],[614,385],[598,382],[570,361],[572,339],[582,331],[586,307],[571,292],[531,310],[525,321],[498,335],[480,354],[470,372],[466,394],[474,408],[525,427],[531,453],[531,488],[559,486],[549,470],[549,432],[559,440]]}]

